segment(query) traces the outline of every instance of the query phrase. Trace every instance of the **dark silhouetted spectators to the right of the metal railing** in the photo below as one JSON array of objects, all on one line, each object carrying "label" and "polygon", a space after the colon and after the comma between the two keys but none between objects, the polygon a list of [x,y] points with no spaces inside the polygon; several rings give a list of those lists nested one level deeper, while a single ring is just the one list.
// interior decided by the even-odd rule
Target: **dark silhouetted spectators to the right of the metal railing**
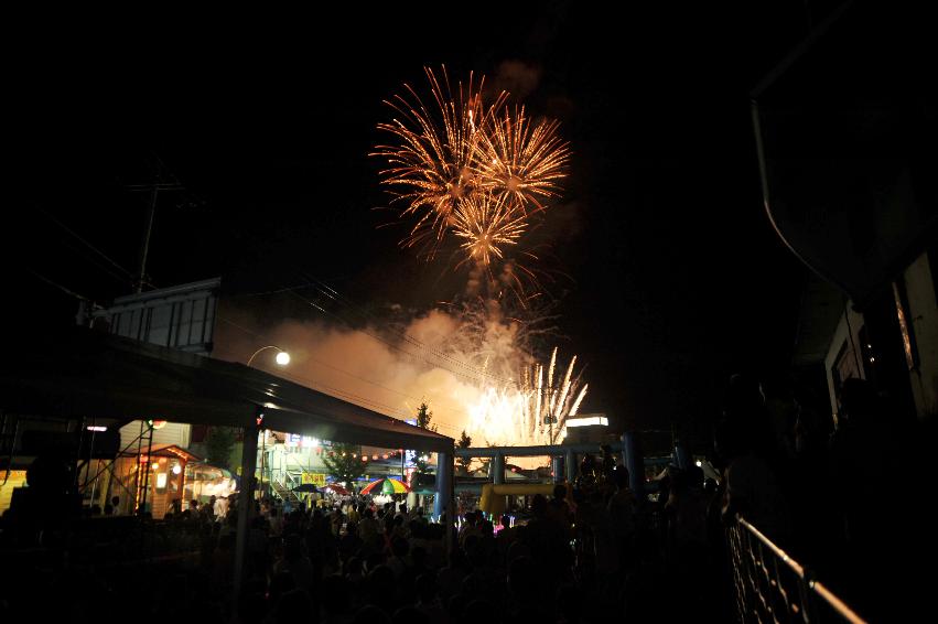
[{"label": "dark silhouetted spectators to the right of the metal railing", "polygon": [[864,379],[832,420],[786,383],[731,379],[713,459],[724,521],[738,514],[870,621],[905,621],[927,599],[928,519],[909,506],[930,465],[934,422]]}]

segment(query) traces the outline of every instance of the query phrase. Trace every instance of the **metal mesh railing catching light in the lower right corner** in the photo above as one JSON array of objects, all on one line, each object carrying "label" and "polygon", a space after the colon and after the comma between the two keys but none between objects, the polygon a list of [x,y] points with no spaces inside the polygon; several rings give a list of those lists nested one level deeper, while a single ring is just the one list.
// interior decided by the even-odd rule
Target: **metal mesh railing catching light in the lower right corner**
[{"label": "metal mesh railing catching light in the lower right corner", "polygon": [[865,624],[823,583],[756,527],[736,516],[727,530],[740,622]]}]

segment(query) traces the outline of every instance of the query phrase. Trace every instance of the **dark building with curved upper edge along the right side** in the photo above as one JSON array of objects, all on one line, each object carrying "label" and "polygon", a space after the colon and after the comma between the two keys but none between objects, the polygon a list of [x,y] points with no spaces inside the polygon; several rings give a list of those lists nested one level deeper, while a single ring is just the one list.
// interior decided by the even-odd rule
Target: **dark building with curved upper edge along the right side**
[{"label": "dark building with curved upper edge along the right side", "polygon": [[834,426],[849,377],[897,418],[938,415],[938,50],[926,23],[912,6],[848,2],[752,94],[766,214],[811,271],[795,365]]}]

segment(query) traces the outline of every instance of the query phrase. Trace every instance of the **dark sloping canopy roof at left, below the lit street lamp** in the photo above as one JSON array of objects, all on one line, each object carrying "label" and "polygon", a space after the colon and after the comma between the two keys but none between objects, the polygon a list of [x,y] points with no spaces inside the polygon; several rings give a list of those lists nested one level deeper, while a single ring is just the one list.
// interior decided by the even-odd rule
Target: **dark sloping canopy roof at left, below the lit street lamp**
[{"label": "dark sloping canopy roof at left, below the lit street lamp", "polygon": [[[387,449],[453,440],[244,364],[72,327],[13,336],[0,358],[0,409],[98,422],[159,419],[251,427]],[[11,354],[15,354],[12,356]]]}]

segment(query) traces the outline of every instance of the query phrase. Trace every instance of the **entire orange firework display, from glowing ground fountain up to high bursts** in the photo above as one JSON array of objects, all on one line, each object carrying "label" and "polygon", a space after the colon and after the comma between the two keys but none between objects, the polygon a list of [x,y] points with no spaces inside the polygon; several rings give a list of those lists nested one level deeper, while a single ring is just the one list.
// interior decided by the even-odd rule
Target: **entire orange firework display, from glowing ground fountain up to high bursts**
[{"label": "entire orange firework display, from glowing ground fountain up to high bursts", "polygon": [[[548,365],[526,355],[532,336],[553,331],[553,318],[543,319],[547,325],[535,319],[540,283],[522,261],[537,257],[522,239],[531,243],[525,235],[561,191],[569,146],[558,137],[557,121],[536,122],[524,106],[505,106],[507,93],[484,103],[484,77],[475,85],[470,74],[454,92],[445,67],[440,79],[432,69],[424,72],[429,106],[408,85],[405,96],[386,100],[396,116],[378,129],[397,144],[378,146],[371,155],[387,160],[382,183],[402,204],[400,218],[412,219],[401,246],[422,247],[430,260],[444,241],[455,240],[455,268],[470,270],[466,294],[484,301],[463,304],[462,333],[470,344],[461,340],[446,349],[481,366],[467,430],[489,444],[559,443],[587,386],[575,373],[576,357],[564,368],[558,366],[557,348]],[[477,290],[483,275],[485,289]],[[517,294],[524,314],[504,313],[502,306],[513,301],[508,292]]]}]

